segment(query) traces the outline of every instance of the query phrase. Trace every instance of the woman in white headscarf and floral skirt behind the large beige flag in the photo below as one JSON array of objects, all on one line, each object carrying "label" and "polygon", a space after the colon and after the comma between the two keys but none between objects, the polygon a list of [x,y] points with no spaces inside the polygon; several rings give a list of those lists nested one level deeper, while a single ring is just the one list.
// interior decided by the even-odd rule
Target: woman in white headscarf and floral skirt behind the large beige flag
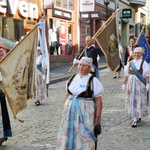
[{"label": "woman in white headscarf and floral skirt behind the large beige flag", "polygon": [[37,53],[37,57],[36,57],[36,69],[35,69],[34,99],[36,100],[35,105],[39,106],[40,101],[47,96],[46,94],[47,65],[46,65],[45,57],[42,56],[40,47],[37,47],[36,53]]}]

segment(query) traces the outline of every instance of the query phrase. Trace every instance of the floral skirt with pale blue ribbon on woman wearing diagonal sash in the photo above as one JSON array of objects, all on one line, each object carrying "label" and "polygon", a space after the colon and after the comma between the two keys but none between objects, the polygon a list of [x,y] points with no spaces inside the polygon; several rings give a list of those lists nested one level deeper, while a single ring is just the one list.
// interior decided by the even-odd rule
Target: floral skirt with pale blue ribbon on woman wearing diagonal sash
[{"label": "floral skirt with pale blue ribbon on woman wearing diagonal sash", "polygon": [[148,116],[146,87],[135,75],[128,78],[125,111],[134,118]]}]

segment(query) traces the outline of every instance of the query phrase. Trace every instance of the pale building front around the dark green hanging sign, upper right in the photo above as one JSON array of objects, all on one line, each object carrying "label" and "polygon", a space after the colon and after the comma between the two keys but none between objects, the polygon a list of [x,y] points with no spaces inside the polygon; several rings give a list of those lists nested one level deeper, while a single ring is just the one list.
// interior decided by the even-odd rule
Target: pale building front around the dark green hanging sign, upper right
[{"label": "pale building front around the dark green hanging sign, upper right", "polygon": [[131,9],[131,18],[122,18],[119,14],[119,37],[123,47],[129,44],[130,36],[139,37],[143,30],[145,36],[149,36],[149,0],[120,0],[119,8]]}]

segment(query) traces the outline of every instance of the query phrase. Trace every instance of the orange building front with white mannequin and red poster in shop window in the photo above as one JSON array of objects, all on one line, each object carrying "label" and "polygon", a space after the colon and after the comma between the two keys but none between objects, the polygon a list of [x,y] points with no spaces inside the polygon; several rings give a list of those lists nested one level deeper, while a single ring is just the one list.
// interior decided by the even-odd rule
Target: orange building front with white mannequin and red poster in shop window
[{"label": "orange building front with white mannequin and red poster in shop window", "polygon": [[54,0],[45,9],[51,68],[73,60],[78,51],[78,1]]}]

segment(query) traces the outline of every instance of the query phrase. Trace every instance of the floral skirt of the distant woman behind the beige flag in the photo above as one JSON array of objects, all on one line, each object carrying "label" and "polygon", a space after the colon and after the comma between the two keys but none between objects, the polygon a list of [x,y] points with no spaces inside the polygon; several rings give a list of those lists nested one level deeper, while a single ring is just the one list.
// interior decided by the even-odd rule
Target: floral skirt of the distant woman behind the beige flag
[{"label": "floral skirt of the distant woman behind the beige flag", "polygon": [[43,74],[35,69],[35,84],[34,84],[34,96],[33,99],[43,100],[47,96],[46,82],[43,80]]}]

